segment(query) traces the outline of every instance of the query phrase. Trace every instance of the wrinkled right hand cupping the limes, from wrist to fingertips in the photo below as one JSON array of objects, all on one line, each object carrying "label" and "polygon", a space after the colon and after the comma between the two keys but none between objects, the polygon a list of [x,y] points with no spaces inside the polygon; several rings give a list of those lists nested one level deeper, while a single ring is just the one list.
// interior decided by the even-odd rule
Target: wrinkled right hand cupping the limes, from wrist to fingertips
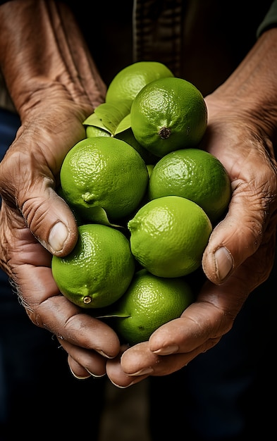
[{"label": "wrinkled right hand cupping the limes, from wrist to fingertips", "polygon": [[[126,387],[148,375],[178,371],[213,347],[233,325],[247,296],[268,278],[276,235],[277,168],[273,147],[257,121],[207,97],[209,125],[202,148],[226,167],[233,197],[211,234],[197,301],[180,318],[107,362],[111,381]],[[126,349],[126,348],[124,348]]]}]

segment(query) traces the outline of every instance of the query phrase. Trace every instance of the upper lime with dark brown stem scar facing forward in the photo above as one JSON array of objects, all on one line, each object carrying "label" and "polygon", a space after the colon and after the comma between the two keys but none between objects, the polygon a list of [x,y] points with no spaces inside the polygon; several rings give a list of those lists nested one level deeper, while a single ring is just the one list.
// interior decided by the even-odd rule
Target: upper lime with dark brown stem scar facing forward
[{"label": "upper lime with dark brown stem scar facing forward", "polygon": [[159,78],[137,94],[130,119],[137,142],[162,157],[197,147],[207,129],[207,106],[192,83],[177,77]]}]

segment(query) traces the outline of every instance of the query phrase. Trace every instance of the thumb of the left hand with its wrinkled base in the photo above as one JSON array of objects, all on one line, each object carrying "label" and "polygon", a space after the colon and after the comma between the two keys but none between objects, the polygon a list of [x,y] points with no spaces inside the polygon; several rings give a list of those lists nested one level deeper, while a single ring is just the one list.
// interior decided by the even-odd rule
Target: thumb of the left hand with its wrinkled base
[{"label": "thumb of the left hand with its wrinkled base", "polygon": [[[61,115],[56,118],[61,118]],[[45,118],[47,121],[46,114]],[[25,123],[1,162],[0,178],[3,200],[11,209],[18,208],[32,234],[57,256],[64,256],[73,249],[78,230],[72,211],[56,194],[55,188],[59,185],[64,157],[74,142],[84,137],[84,127],[76,117],[68,116],[62,130],[63,123],[64,117],[60,126],[58,123],[51,126],[47,121],[41,130],[33,127],[32,123]],[[55,133],[54,139],[49,137],[49,133]],[[44,138],[49,145],[43,144]]]}]

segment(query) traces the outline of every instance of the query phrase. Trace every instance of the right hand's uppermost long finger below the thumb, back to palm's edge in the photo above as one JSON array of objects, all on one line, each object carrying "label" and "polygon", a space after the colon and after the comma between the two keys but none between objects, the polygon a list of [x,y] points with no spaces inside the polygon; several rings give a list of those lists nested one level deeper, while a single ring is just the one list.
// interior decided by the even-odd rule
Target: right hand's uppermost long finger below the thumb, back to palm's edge
[{"label": "right hand's uppermost long finger below the thumb, back to palm's edge", "polygon": [[161,326],[149,339],[149,348],[156,354],[191,352],[214,345],[228,333],[250,292],[265,280],[273,264],[275,235],[271,248],[266,243],[250,256],[221,285],[207,281],[200,290],[197,301],[183,312],[180,318]]}]

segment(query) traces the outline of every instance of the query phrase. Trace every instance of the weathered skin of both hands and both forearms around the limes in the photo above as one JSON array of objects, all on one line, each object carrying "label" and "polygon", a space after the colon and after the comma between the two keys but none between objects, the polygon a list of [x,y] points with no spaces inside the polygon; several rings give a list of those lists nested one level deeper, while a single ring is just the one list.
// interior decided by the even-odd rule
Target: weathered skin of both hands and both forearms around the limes
[{"label": "weathered skin of both hands and both forearms around the limes", "polygon": [[22,121],[0,164],[1,268],[30,320],[58,337],[78,378],[106,373],[126,387],[177,371],[232,328],[247,296],[271,271],[277,29],[264,32],[235,73],[206,97],[203,147],[223,163],[233,188],[228,214],[204,252],[207,283],[181,318],[121,356],[126,348],[113,330],[68,302],[50,268],[51,254],[68,254],[77,239],[70,209],[55,192],[61,163],[85,136],[82,121],[104,101],[106,88],[65,7],[11,1],[0,7],[0,23],[1,70]]}]

